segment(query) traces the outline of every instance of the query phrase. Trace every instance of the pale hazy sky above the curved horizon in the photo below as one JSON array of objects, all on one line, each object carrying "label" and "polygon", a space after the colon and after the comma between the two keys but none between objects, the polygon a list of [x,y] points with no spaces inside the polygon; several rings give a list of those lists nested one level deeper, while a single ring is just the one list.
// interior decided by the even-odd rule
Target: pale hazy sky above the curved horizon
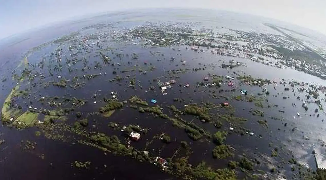
[{"label": "pale hazy sky above the curved horizon", "polygon": [[0,0],[0,39],[53,22],[138,8],[206,8],[273,18],[326,35],[325,0]]}]

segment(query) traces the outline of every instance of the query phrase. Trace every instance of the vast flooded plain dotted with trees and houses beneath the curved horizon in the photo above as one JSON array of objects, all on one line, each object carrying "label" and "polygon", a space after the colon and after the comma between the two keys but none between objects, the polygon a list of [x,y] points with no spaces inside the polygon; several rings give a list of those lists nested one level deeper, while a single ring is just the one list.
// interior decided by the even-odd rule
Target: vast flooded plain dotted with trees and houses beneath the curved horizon
[{"label": "vast flooded plain dotted with trees and houses beneath the curved horizon", "polygon": [[316,178],[326,82],[271,45],[298,42],[260,19],[166,11],[66,22],[1,49],[5,179]]}]

